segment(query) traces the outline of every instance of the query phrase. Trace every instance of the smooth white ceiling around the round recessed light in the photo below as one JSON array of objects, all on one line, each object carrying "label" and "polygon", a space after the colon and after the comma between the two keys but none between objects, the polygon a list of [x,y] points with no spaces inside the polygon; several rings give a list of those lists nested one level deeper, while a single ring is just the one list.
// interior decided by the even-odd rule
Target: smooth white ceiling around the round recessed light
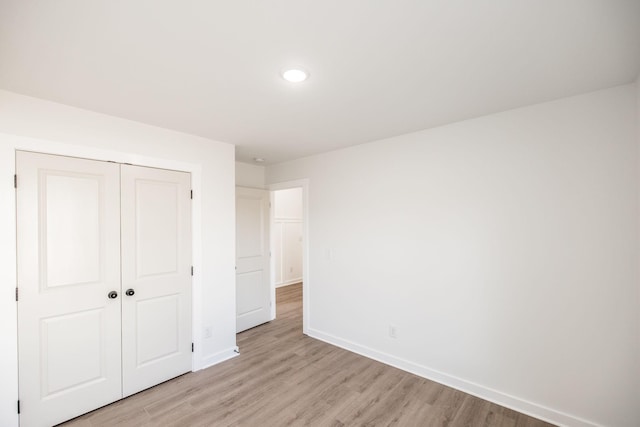
[{"label": "smooth white ceiling around the round recessed light", "polygon": [[[304,83],[280,77],[302,66]],[[640,0],[0,0],[0,88],[278,163],[632,82]]]}]

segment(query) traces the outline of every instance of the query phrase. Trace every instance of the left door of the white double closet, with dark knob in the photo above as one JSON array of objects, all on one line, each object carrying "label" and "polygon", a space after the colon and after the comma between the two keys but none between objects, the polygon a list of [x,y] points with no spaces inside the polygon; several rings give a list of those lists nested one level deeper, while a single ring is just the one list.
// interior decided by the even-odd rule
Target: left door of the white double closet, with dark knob
[{"label": "left door of the white double closet, with dark knob", "polygon": [[16,171],[20,423],[51,426],[121,397],[119,165],[17,152]]}]

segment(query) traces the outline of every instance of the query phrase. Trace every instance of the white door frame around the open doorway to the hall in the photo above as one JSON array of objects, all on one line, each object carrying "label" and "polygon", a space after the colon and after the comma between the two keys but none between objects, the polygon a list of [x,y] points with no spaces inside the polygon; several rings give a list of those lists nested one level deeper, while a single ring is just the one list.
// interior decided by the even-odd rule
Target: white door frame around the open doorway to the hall
[{"label": "white door frame around the open doorway to the hall", "polygon": [[[275,184],[269,184],[267,188],[270,191],[271,206],[274,204],[274,191],[288,190],[290,188],[302,188],[302,333],[309,335],[309,324],[311,320],[311,282],[309,271],[309,179],[298,179],[294,181],[284,181]],[[271,225],[269,247],[271,253],[275,253],[275,215],[273,209],[269,210],[269,222]],[[276,273],[275,273],[275,257],[271,257],[271,299],[276,301]],[[276,317],[276,304],[271,306],[271,317]]]}]

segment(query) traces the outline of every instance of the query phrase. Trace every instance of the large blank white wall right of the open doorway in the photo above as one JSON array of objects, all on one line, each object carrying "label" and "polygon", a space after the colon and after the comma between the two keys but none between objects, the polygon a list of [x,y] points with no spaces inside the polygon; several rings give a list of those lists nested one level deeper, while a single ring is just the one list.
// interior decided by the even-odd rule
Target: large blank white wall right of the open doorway
[{"label": "large blank white wall right of the open doorway", "polygon": [[309,179],[309,334],[556,423],[640,425],[636,96],[268,167]]}]

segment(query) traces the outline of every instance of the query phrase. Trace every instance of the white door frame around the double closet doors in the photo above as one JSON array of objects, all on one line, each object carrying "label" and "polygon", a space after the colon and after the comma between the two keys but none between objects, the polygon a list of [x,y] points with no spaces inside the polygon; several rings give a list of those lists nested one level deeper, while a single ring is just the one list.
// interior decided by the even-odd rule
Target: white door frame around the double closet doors
[{"label": "white door frame around the double closet doors", "polygon": [[[197,195],[202,194],[202,167],[197,164],[175,161],[171,159],[162,159],[157,157],[143,156],[135,153],[104,150],[90,146],[73,145],[64,142],[56,142],[45,139],[30,138],[24,136],[10,135],[0,133],[0,170],[10,172],[12,175],[16,173],[16,151],[33,151],[42,154],[53,154],[59,156],[79,157],[98,161],[113,161],[117,163],[130,163],[138,166],[147,166],[159,169],[171,169],[176,171],[188,172],[191,174],[191,188],[196,194],[191,205],[191,245],[192,245],[192,263],[194,265],[194,274],[192,276],[192,322],[191,333],[195,343],[195,351],[191,355],[191,371],[195,372],[202,369],[202,345],[200,345],[202,337],[199,333],[202,328],[198,325],[202,324],[202,308],[197,303],[202,300],[202,202]],[[10,183],[9,176],[2,175],[2,186],[13,187]],[[6,181],[6,182],[4,182]],[[9,227],[3,227],[3,238],[0,239],[0,280],[2,283],[11,284],[10,288],[0,290],[2,295],[14,293],[14,284],[17,283],[16,272],[16,200],[11,197],[3,200],[3,207],[0,209],[0,224],[11,224]],[[9,216],[10,215],[10,216]],[[9,220],[10,219],[10,220]],[[5,233],[6,238],[5,238]],[[18,331],[17,331],[17,305],[11,304],[12,309],[7,310],[0,315],[1,336],[5,337],[4,343],[7,345],[0,357],[3,359],[2,365],[9,363],[14,366],[13,375],[5,378],[7,383],[13,384],[14,392],[12,395],[0,396],[2,406],[11,405],[15,408],[15,402],[19,397],[18,391]],[[8,308],[8,307],[7,307]],[[9,362],[9,363],[6,363]],[[7,393],[8,394],[8,393]],[[8,408],[7,408],[8,409]],[[11,413],[13,411],[0,408],[0,414]],[[18,425],[18,414],[15,412],[15,418],[6,420],[10,425]]]}]

